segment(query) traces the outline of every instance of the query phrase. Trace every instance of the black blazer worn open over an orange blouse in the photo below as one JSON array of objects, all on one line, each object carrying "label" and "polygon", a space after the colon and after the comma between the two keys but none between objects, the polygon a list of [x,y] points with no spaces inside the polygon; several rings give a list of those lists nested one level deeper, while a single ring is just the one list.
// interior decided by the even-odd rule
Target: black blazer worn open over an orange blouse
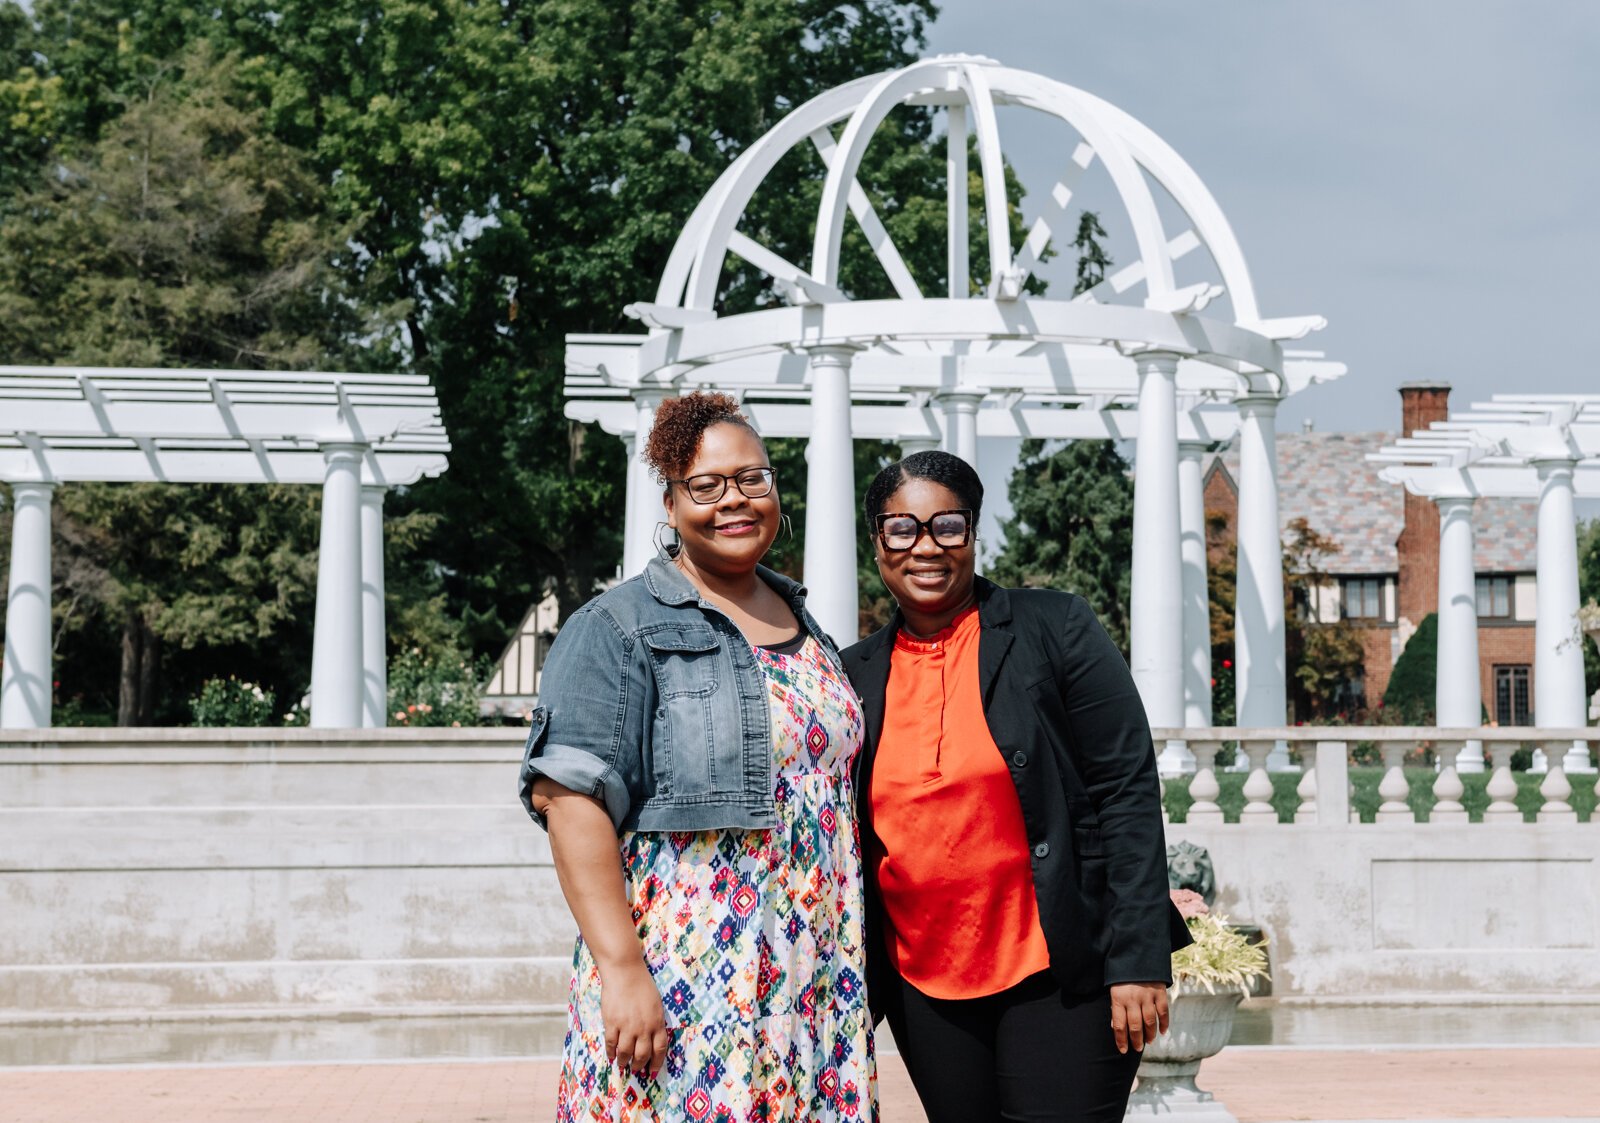
[{"label": "black blazer worn open over an orange blouse", "polygon": [[[1155,747],[1128,664],[1074,593],[979,577],[978,619],[984,717],[1022,805],[1051,974],[1067,993],[1170,984],[1171,953],[1190,937],[1168,897]],[[867,793],[898,629],[896,614],[845,651],[867,726],[856,789],[864,854],[875,845]],[[869,867],[869,989],[877,995],[890,990],[880,923]]]}]

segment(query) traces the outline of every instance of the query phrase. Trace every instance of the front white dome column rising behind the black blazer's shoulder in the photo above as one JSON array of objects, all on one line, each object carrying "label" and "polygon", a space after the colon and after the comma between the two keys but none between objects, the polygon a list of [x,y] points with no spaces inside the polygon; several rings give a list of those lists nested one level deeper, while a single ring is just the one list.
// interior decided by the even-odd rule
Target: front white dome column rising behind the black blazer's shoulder
[{"label": "front white dome column rising behind the black blazer's shoulder", "polygon": [[1184,574],[1178,514],[1178,360],[1139,357],[1133,474],[1131,669],[1152,726],[1184,723]]}]

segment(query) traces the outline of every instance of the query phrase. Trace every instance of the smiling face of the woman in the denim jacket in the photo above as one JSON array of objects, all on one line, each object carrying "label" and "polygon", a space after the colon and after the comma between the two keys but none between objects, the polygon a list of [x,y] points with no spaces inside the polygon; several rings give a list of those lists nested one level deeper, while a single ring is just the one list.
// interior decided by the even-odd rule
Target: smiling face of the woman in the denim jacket
[{"label": "smiling face of the woman in the denim jacket", "polygon": [[[730,477],[770,467],[762,438],[744,426],[720,422],[701,435],[694,459],[683,478],[696,475]],[[715,502],[694,502],[688,488],[674,483],[666,494],[667,525],[683,544],[682,562],[691,571],[736,577],[755,569],[778,538],[778,485],[752,499],[728,480]]]}]

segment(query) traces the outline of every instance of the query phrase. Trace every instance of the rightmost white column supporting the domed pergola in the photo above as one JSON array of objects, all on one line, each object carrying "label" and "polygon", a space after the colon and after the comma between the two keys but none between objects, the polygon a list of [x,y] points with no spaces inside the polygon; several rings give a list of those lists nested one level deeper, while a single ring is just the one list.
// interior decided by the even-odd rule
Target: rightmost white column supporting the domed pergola
[{"label": "rightmost white column supporting the domed pergola", "polygon": [[[1278,528],[1278,400],[1245,397],[1238,406],[1238,589],[1234,667],[1238,725],[1280,726],[1288,718],[1283,656],[1283,541]],[[1288,768],[1278,744],[1267,768]]]}]

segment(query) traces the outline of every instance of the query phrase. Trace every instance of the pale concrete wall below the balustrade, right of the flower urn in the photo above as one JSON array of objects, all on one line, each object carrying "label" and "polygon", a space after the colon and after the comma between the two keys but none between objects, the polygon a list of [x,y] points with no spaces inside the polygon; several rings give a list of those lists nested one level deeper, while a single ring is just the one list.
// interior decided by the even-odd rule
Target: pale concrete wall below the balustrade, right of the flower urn
[{"label": "pale concrete wall below the balustrade, right of the flower urn", "polygon": [[1277,997],[1600,1000],[1600,824],[1171,824],[1261,925]]}]

